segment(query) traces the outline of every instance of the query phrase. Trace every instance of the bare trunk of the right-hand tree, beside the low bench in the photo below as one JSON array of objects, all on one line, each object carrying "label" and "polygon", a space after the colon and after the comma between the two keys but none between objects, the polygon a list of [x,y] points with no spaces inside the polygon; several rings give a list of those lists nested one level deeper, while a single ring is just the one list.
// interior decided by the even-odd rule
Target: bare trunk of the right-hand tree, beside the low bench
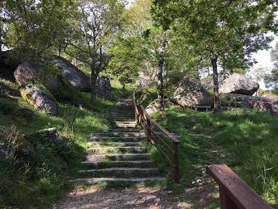
[{"label": "bare trunk of the right-hand tree, beside the low bench", "polygon": [[218,56],[211,55],[211,65],[213,65],[213,99],[214,99],[214,111],[220,111],[220,99],[219,99],[219,86],[218,86]]}]

